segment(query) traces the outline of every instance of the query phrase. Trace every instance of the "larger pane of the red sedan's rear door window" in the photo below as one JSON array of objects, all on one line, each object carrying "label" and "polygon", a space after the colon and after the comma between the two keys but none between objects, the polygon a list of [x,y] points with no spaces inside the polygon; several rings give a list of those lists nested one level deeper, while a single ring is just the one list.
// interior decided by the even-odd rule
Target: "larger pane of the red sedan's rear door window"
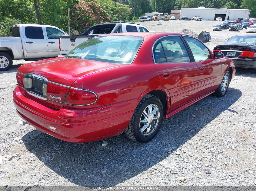
[{"label": "larger pane of the red sedan's rear door window", "polygon": [[180,37],[164,37],[161,42],[164,46],[168,63],[190,62],[187,49]]}]

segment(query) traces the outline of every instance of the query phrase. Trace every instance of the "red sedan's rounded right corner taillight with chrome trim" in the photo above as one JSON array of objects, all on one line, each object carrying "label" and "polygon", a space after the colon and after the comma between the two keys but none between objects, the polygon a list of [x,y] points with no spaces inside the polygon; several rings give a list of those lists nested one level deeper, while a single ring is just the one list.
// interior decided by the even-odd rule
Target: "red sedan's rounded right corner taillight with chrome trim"
[{"label": "red sedan's rounded right corner taillight with chrome trim", "polygon": [[97,94],[93,91],[69,88],[65,104],[68,106],[86,106],[95,103],[97,99]]}]

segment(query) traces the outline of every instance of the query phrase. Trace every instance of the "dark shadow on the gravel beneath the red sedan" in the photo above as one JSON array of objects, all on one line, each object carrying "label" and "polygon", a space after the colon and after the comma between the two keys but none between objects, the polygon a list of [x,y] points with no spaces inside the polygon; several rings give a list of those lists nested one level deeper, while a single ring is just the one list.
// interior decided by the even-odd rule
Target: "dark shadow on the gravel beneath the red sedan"
[{"label": "dark shadow on the gravel beneath the red sedan", "polygon": [[[124,134],[105,139],[108,141],[106,147],[101,146],[102,141],[68,143],[40,134],[39,130],[27,133],[22,141],[28,151],[35,154],[48,168],[76,185],[113,186],[139,173],[148,173],[145,171],[173,154],[225,110],[235,115],[236,111],[229,107],[241,95],[241,91],[229,88],[224,97],[210,95],[194,103],[164,120],[158,135],[146,144],[132,142]],[[172,148],[172,151],[166,151],[166,148]],[[150,178],[150,173],[148,176]]]}]

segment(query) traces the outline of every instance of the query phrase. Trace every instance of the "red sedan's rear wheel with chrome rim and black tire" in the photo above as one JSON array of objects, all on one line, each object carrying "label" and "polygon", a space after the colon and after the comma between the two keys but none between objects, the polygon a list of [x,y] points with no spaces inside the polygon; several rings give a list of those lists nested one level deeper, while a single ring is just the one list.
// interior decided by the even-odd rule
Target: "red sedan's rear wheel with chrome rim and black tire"
[{"label": "red sedan's rear wheel with chrome rim and black tire", "polygon": [[136,107],[125,135],[135,142],[149,142],[160,129],[163,116],[163,105],[158,97],[145,95]]}]

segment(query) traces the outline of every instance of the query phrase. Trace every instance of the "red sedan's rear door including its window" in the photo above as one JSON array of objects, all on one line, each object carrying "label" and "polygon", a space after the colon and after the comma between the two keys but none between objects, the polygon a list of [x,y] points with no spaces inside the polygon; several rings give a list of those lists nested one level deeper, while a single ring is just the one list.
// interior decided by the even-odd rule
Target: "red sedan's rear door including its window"
[{"label": "red sedan's rear door including its window", "polygon": [[171,110],[193,100],[198,87],[198,67],[191,62],[181,37],[161,38],[155,43],[153,53],[161,82],[171,95]]}]

